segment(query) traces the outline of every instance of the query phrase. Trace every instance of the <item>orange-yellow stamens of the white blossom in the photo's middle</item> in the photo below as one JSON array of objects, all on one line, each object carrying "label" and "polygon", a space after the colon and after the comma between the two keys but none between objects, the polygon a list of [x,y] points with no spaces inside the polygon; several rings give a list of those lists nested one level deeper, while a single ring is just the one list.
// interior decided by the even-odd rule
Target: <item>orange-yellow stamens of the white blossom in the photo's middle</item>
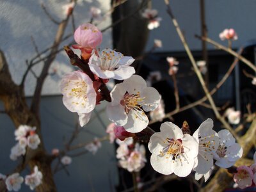
[{"label": "orange-yellow stamens of the white blossom in the photo's middle", "polygon": [[129,113],[131,109],[142,111],[141,105],[143,104],[144,99],[145,97],[140,97],[140,92],[136,94],[125,93],[124,99],[120,101],[120,104],[125,106],[125,113]]}]

